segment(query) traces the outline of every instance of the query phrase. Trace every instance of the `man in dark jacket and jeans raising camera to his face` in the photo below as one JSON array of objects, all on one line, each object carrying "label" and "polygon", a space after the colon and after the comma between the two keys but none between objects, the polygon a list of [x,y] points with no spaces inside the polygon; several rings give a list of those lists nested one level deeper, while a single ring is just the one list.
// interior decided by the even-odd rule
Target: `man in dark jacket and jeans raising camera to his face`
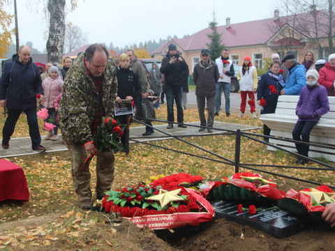
[{"label": "man in dark jacket and jeans raising camera to his face", "polygon": [[177,105],[178,127],[186,128],[184,124],[183,102],[183,84],[186,77],[184,72],[188,70],[185,59],[177,54],[177,45],[171,43],[168,47],[168,53],[162,61],[161,73],[165,76],[165,95],[168,103],[168,129],[173,128],[174,112],[173,103]]}]

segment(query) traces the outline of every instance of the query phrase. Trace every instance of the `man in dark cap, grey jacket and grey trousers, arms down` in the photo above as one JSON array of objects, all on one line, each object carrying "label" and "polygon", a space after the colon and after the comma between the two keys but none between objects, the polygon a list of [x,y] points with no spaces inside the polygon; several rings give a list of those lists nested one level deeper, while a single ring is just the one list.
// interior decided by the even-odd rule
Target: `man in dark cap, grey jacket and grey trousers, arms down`
[{"label": "man in dark cap, grey jacket and grey trousers, arms down", "polygon": [[[200,126],[208,127],[208,132],[213,132],[214,105],[216,99],[216,82],[218,81],[218,66],[211,62],[211,53],[208,49],[202,49],[201,61],[194,66],[193,81],[195,83],[195,96],[197,96]],[[204,105],[207,100],[207,123],[204,116]],[[204,131],[204,127],[199,131]]]}]

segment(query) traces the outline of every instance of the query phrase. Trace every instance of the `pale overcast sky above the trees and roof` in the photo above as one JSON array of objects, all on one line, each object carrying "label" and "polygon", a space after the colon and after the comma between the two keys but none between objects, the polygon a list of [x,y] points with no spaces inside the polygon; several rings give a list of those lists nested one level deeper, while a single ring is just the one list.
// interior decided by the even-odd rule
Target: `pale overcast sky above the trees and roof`
[{"label": "pale overcast sky above the trees and roof", "polygon": [[[40,52],[45,50],[49,22],[43,4],[43,0],[17,1],[20,45],[31,41]],[[218,25],[225,25],[226,17],[231,24],[273,17],[275,8],[273,0],[78,0],[77,9],[67,15],[66,22],[80,26],[89,43],[112,42],[124,47],[191,35],[207,28],[213,10]],[[14,12],[11,6],[6,10]]]}]

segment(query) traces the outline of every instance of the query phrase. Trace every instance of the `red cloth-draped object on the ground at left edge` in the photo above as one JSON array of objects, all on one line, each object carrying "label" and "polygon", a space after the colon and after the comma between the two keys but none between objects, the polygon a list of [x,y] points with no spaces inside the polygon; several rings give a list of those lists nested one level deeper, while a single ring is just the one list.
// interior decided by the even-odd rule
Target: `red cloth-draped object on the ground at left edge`
[{"label": "red cloth-draped object on the ground at left edge", "polygon": [[5,199],[29,201],[29,189],[22,167],[0,160],[0,201]]}]

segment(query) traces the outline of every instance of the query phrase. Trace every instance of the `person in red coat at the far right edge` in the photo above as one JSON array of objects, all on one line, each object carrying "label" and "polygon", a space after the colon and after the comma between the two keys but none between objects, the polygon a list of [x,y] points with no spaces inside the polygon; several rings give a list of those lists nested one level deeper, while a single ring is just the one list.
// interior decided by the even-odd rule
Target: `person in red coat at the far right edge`
[{"label": "person in red coat at the far right edge", "polygon": [[335,96],[335,53],[329,55],[328,62],[320,69],[319,74],[318,83],[326,87],[328,96]]}]

